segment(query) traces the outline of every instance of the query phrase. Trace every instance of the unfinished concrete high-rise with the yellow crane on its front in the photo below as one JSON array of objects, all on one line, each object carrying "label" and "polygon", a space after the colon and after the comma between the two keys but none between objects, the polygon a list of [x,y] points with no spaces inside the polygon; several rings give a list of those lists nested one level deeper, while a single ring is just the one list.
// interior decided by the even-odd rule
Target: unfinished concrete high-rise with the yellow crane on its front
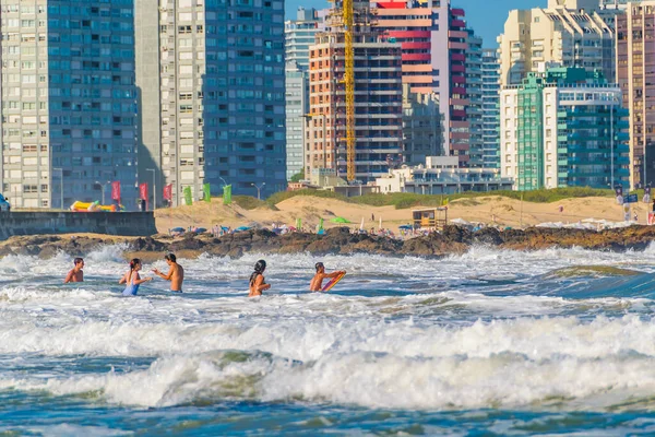
[{"label": "unfinished concrete high-rise with the yellow crane on its front", "polygon": [[307,176],[367,182],[402,161],[401,46],[373,20],[368,1],[336,1],[310,47]]}]

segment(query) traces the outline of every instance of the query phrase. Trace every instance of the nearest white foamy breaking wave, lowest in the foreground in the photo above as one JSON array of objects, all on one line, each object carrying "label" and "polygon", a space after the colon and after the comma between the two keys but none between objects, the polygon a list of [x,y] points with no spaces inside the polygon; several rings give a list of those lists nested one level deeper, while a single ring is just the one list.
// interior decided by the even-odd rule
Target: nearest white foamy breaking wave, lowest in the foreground
[{"label": "nearest white foamy breaking wave, lowest in the foreground", "polygon": [[206,353],[160,358],[145,370],[68,378],[0,379],[0,389],[53,394],[96,392],[108,402],[170,406],[226,399],[306,400],[392,409],[603,409],[655,390],[655,359],[611,355],[590,359],[522,354],[406,357],[329,353],[308,363],[262,354]]}]

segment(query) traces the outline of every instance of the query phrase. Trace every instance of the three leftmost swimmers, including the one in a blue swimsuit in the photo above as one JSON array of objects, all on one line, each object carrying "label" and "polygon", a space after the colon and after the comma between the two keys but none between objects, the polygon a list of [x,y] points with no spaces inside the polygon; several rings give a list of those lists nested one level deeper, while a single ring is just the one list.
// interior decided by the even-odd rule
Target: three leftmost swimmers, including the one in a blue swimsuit
[{"label": "three leftmost swimmers, including the one in a blue swimsuit", "polygon": [[[184,269],[177,263],[177,258],[175,253],[168,253],[164,257],[166,263],[170,268],[168,273],[163,273],[157,269],[153,269],[152,272],[157,276],[170,281],[170,291],[174,293],[182,293],[182,282],[184,281]],[[69,282],[84,282],[84,259],[75,258],[73,260],[73,269],[67,274],[63,280],[64,284]],[[134,258],[130,261],[130,270],[122,275],[122,277],[118,281],[119,284],[126,284],[126,290],[123,290],[123,296],[136,296],[136,292],[139,292],[139,285],[144,282],[152,281],[152,277],[143,277],[139,272],[143,268],[141,260],[139,258]]]}]

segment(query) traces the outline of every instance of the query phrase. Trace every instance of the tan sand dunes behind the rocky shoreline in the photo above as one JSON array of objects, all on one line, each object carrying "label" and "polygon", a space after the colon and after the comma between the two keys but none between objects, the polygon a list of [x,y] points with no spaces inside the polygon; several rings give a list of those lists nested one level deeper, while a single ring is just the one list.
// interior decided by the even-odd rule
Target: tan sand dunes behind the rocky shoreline
[{"label": "tan sand dunes behind the rocky shoreline", "polygon": [[[560,206],[563,211],[560,212]],[[298,196],[276,205],[279,211],[269,208],[245,210],[236,204],[223,205],[222,199],[213,199],[212,203],[199,202],[190,206],[160,209],[156,211],[157,228],[159,232],[181,226],[199,226],[211,228],[219,224],[237,227],[259,224],[270,226],[272,223],[294,225],[296,218],[302,220],[305,227],[313,228],[320,217],[325,227],[337,226],[330,218],[342,216],[352,222],[349,226],[359,227],[365,220],[365,227],[379,225],[392,229],[409,223],[412,209],[396,210],[394,206],[368,206],[347,203],[341,200],[322,199]],[[646,223],[646,212],[650,204],[636,203],[632,206],[639,215],[639,223]],[[374,215],[374,221],[371,220]],[[584,218],[623,220],[623,206],[618,205],[614,198],[577,198],[553,203],[531,203],[520,200],[489,196],[484,198],[460,199],[449,204],[449,220],[463,218],[468,222],[496,223],[500,226],[520,227],[546,222],[574,223]]]}]

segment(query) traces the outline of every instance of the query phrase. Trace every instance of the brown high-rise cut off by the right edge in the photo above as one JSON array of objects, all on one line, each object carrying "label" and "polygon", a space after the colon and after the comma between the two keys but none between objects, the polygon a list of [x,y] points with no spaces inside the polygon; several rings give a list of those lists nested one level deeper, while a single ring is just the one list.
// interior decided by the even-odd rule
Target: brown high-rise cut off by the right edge
[{"label": "brown high-rise cut off by the right edge", "polygon": [[[630,109],[631,186],[655,180],[655,1],[632,3],[617,20],[617,80]],[[645,175],[644,175],[645,173]]]}]

